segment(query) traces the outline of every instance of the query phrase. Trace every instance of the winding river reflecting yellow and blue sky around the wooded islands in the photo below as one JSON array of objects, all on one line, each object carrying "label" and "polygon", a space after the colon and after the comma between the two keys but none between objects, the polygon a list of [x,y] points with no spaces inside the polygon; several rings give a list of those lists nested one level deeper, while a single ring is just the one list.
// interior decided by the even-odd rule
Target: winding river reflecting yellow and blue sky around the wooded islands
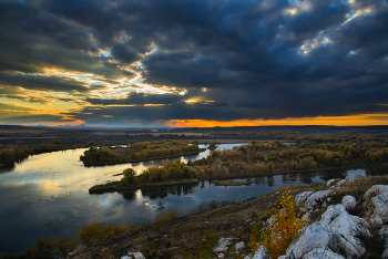
[{"label": "winding river reflecting yellow and blue sky around the wooded islands", "polygon": [[[242,144],[221,144],[218,149],[238,145]],[[284,185],[385,174],[382,169],[317,170],[252,177],[249,182],[253,184],[248,186],[223,187],[204,180],[194,185],[90,195],[88,190],[91,186],[120,179],[121,176],[113,175],[125,168],[141,172],[159,165],[161,160],[84,167],[79,159],[84,151],[80,148],[33,155],[0,172],[0,256],[3,252],[23,252],[34,244],[37,237],[53,239],[74,234],[85,224],[140,225],[153,221],[157,214],[171,209],[175,209],[178,216],[185,216],[203,200],[239,203]],[[171,160],[195,160],[207,155],[208,151]]]}]

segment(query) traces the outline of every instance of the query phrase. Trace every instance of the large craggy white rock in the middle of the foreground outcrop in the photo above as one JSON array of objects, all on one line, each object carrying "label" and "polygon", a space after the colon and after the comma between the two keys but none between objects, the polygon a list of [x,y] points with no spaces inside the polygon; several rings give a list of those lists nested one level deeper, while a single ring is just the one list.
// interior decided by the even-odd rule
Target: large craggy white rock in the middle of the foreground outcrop
[{"label": "large craggy white rock in the middle of the foreground outcrop", "polygon": [[343,205],[329,206],[321,215],[321,222],[329,225],[339,236],[339,247],[346,252],[347,258],[360,258],[366,249],[357,235],[371,237],[368,222],[357,216],[349,215]]}]

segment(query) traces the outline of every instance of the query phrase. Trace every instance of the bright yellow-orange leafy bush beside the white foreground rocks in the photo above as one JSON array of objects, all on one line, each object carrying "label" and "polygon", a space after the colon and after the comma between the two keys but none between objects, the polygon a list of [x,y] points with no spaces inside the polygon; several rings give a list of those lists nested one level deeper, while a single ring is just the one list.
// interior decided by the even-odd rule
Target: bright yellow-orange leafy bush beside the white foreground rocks
[{"label": "bright yellow-orange leafy bush beside the white foreground rocks", "polygon": [[303,220],[295,216],[293,200],[294,197],[289,195],[289,189],[287,189],[274,209],[273,225],[266,229],[253,229],[251,235],[253,251],[264,245],[270,258],[278,258],[286,253],[289,244],[304,227]]}]

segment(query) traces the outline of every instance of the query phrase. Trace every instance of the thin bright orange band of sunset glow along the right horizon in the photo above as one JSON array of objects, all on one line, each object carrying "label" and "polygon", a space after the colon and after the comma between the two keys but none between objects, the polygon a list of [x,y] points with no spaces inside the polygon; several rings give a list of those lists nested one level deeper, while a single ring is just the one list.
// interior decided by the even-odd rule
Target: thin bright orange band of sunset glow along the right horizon
[{"label": "thin bright orange band of sunset glow along the right horizon", "polygon": [[388,114],[359,114],[348,116],[318,116],[283,120],[236,120],[231,122],[206,120],[170,120],[166,122],[171,127],[236,127],[236,126],[367,126],[388,125]]}]

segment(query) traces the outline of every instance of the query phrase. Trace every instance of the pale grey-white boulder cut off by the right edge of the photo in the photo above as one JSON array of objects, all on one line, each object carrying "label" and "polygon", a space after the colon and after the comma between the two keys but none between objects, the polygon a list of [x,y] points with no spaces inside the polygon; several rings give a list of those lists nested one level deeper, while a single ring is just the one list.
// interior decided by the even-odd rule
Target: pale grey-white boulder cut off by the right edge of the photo
[{"label": "pale grey-white boulder cut off by the right edge of the photo", "polygon": [[[370,224],[388,224],[388,186],[374,185],[364,195],[363,208],[365,219]],[[380,219],[378,219],[380,218]]]}]

